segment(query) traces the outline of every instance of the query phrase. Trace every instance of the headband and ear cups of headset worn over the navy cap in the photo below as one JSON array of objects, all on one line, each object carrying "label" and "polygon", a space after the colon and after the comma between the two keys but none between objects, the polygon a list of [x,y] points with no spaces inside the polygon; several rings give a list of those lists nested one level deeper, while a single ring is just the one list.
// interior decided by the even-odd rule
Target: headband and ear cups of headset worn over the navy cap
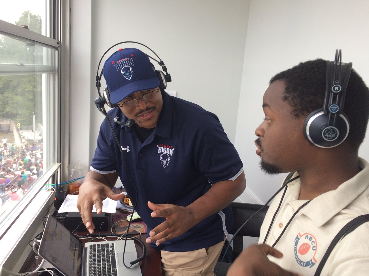
[{"label": "headband and ear cups of headset worn over the navy cap", "polygon": [[[101,95],[100,93],[100,86],[101,86],[101,76],[103,75],[104,69],[101,69],[101,72],[99,74],[99,68],[100,68],[100,63],[103,60],[105,54],[113,47],[119,45],[119,44],[123,44],[123,43],[135,43],[135,44],[139,44],[142,45],[144,47],[146,47],[147,49],[149,49],[151,52],[153,52],[155,54],[155,56],[158,57],[158,59],[160,60],[156,60],[153,57],[149,56],[148,54],[146,54],[150,59],[155,60],[161,67],[162,70],[165,72],[165,74],[163,73],[163,71],[161,70],[155,70],[156,72],[156,76],[158,77],[159,81],[160,81],[160,89],[161,91],[164,91],[164,89],[166,88],[166,85],[168,82],[172,81],[172,78],[170,77],[170,74],[168,74],[168,71],[166,69],[166,66],[164,64],[164,62],[161,60],[161,58],[153,51],[151,50],[148,46],[139,43],[139,42],[135,42],[135,41],[124,41],[124,42],[119,42],[117,44],[114,44],[113,46],[111,46],[109,49],[106,50],[106,52],[103,54],[103,56],[101,57],[100,61],[99,61],[99,66],[97,66],[97,74],[96,74],[96,87],[97,87],[97,93],[99,93],[99,98],[95,99],[95,104],[98,101],[100,106],[102,105],[108,105],[109,107],[113,108],[113,107],[118,107],[118,105],[113,104],[110,102],[110,91],[109,89],[106,87],[103,90],[103,95]],[[118,52],[118,51],[116,51]],[[115,53],[116,53],[115,52]],[[114,53],[113,53],[114,54]],[[97,105],[96,105],[97,106]],[[99,109],[99,106],[97,106],[97,108]],[[99,109],[100,110],[100,109]]]}]

